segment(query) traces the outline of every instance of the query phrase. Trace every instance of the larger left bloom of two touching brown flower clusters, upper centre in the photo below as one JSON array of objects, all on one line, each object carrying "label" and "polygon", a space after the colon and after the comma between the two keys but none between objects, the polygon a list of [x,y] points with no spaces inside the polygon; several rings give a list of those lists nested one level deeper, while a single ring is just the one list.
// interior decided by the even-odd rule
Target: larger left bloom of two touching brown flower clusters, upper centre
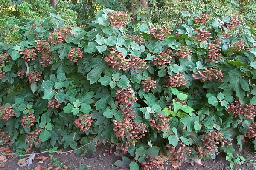
[{"label": "larger left bloom of two touching brown flower clusters, upper centre", "polygon": [[113,51],[108,54],[104,58],[106,62],[108,62],[108,65],[110,65],[113,68],[117,68],[118,70],[127,70],[129,66],[129,61],[125,59],[125,57],[115,48],[111,48]]}]

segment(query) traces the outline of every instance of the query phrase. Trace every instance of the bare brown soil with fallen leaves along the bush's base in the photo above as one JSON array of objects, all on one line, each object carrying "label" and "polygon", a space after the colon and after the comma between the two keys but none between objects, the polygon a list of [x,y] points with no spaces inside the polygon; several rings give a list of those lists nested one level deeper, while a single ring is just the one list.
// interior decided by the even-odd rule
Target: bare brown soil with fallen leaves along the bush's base
[{"label": "bare brown soil with fallen leaves along the bush's base", "polygon": [[[32,150],[30,153],[38,153],[38,150]],[[252,145],[246,144],[241,152],[237,152],[239,155],[244,156],[247,161],[256,163],[256,152]],[[29,167],[19,167],[18,161],[22,159],[21,156],[14,156],[8,158],[5,162],[5,167],[0,170],[121,170],[121,167],[114,165],[116,160],[121,160],[122,156],[125,156],[122,152],[114,150],[110,144],[100,144],[95,153],[87,153],[83,156],[79,156],[74,153],[70,154],[58,154],[52,153],[41,154],[40,156],[45,160],[34,159]],[[234,154],[236,155],[236,153]],[[35,156],[35,158],[38,156]],[[183,163],[180,170],[230,170],[229,162],[225,160],[225,155],[220,154],[215,160],[202,161],[204,166],[196,167],[191,163]],[[241,166],[236,164],[234,170],[256,170],[256,167],[248,162],[244,162]],[[170,164],[164,164],[165,170],[174,170]],[[123,168],[122,170],[128,170]]]}]

